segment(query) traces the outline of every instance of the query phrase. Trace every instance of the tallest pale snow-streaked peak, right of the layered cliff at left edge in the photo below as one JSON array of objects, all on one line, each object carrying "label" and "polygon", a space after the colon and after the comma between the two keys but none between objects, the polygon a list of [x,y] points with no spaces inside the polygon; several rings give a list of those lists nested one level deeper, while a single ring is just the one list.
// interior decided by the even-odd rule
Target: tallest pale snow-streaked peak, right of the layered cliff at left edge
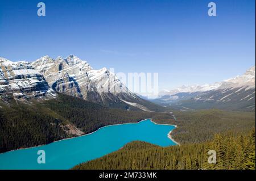
[{"label": "tallest pale snow-streaked peak, right of the layered cliff at left edge", "polygon": [[131,94],[108,69],[93,70],[86,61],[73,55],[56,59],[45,56],[31,66],[44,75],[53,90],[92,102],[118,102],[120,92]]}]

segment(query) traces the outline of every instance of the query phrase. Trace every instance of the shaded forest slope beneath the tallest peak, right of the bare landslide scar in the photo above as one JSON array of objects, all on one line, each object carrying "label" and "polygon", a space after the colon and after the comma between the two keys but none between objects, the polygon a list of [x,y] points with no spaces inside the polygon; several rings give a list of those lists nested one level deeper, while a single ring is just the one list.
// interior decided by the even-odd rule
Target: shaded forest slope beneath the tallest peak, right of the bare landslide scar
[{"label": "shaded forest slope beneath the tallest peak, right of the bare landslide scar", "polygon": [[150,118],[156,113],[110,109],[68,95],[59,95],[58,100],[48,100],[45,106],[63,116],[85,133],[96,131],[110,124],[133,123]]}]

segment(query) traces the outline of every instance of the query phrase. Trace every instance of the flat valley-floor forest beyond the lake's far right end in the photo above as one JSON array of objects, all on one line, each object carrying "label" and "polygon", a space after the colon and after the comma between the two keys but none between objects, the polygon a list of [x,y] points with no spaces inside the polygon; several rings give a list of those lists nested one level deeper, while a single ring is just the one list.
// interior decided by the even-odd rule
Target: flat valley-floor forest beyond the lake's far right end
[{"label": "flat valley-floor forest beyond the lake's far right end", "polygon": [[175,124],[172,137],[180,144],[212,140],[215,133],[247,133],[255,127],[255,112],[197,110],[174,111],[176,120],[168,115],[155,115],[153,120],[162,124]]}]

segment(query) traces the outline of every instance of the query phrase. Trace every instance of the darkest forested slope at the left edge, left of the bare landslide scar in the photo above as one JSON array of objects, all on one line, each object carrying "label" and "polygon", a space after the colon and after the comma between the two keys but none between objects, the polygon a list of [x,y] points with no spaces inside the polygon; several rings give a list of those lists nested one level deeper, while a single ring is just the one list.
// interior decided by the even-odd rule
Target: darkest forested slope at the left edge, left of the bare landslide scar
[{"label": "darkest forested slope at the left edge, left of the bare landslide scar", "polygon": [[66,138],[63,121],[35,107],[10,104],[0,108],[0,153]]}]

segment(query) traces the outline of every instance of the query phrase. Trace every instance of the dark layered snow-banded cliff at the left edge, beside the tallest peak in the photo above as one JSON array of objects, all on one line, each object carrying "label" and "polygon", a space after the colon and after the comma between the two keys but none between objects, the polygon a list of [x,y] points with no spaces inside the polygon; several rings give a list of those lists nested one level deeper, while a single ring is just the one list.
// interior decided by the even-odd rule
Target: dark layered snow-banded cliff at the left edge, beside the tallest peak
[{"label": "dark layered snow-banded cliff at the left edge, beside the tallest peak", "polygon": [[12,62],[6,58],[0,58],[0,94],[1,98],[55,96],[43,75],[28,62]]}]

